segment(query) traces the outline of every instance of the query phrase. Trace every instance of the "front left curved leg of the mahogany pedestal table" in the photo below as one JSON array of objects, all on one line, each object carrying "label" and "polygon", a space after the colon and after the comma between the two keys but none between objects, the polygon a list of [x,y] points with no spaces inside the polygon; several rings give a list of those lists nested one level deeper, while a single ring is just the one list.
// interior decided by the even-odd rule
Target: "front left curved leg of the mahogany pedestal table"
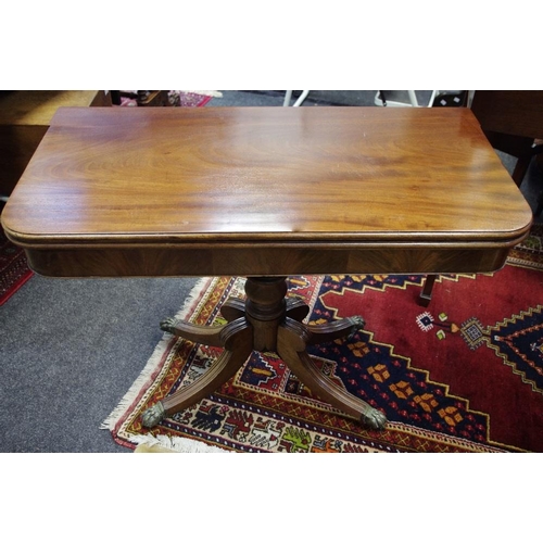
[{"label": "front left curved leg of the mahogany pedestal table", "polygon": [[220,328],[219,342],[225,348],[223,354],[197,381],[147,409],[141,417],[143,426],[151,428],[165,416],[182,411],[216,391],[248,359],[253,350],[253,330],[245,319],[237,319]]}]

